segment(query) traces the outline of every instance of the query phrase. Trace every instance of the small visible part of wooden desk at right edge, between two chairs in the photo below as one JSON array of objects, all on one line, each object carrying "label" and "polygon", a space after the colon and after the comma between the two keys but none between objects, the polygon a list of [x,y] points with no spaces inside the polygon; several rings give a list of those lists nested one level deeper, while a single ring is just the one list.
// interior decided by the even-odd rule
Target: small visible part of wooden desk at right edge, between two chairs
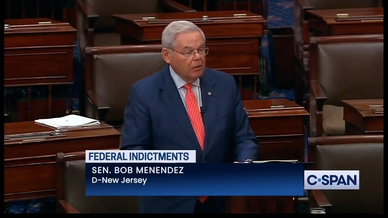
[{"label": "small visible part of wooden desk at right edge, between two chairs", "polygon": [[383,134],[384,100],[343,100],[345,135]]}]

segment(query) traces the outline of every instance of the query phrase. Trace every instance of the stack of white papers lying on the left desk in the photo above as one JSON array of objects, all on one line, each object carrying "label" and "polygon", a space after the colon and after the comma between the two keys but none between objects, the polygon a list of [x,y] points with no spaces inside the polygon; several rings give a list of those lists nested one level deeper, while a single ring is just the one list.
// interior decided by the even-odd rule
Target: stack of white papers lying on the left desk
[{"label": "stack of white papers lying on the left desk", "polygon": [[57,129],[82,128],[87,126],[98,126],[100,121],[83,116],[71,114],[60,118],[37,119],[36,123],[51,126]]}]

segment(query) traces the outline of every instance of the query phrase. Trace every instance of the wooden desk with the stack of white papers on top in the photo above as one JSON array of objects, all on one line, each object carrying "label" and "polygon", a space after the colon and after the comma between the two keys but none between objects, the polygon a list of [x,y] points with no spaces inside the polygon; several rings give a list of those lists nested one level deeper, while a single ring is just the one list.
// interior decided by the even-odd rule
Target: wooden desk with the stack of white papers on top
[{"label": "wooden desk with the stack of white papers on top", "polygon": [[[28,133],[42,135],[28,138]],[[16,139],[12,135],[24,138]],[[4,201],[55,196],[58,152],[117,149],[120,135],[107,124],[55,135],[54,128],[33,121],[5,123]]]}]

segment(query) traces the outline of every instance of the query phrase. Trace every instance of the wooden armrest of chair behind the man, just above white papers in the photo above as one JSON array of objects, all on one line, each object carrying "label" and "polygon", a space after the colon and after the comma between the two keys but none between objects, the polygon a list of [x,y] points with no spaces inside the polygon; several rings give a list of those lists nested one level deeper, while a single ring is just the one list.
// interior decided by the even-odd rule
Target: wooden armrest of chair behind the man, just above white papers
[{"label": "wooden armrest of chair behind the man, just above white papers", "polygon": [[87,90],[87,116],[92,119],[98,119],[100,122],[105,121],[106,114],[110,107],[106,104],[97,93]]}]

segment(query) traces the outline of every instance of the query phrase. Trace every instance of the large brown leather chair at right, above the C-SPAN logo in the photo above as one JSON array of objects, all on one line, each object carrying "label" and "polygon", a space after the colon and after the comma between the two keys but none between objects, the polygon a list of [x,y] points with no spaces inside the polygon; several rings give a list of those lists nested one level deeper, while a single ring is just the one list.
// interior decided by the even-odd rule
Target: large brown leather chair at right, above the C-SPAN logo
[{"label": "large brown leather chair at right, above the C-SPAN logo", "polygon": [[384,98],[383,40],[383,34],[311,38],[311,137],[345,134],[341,100]]}]

